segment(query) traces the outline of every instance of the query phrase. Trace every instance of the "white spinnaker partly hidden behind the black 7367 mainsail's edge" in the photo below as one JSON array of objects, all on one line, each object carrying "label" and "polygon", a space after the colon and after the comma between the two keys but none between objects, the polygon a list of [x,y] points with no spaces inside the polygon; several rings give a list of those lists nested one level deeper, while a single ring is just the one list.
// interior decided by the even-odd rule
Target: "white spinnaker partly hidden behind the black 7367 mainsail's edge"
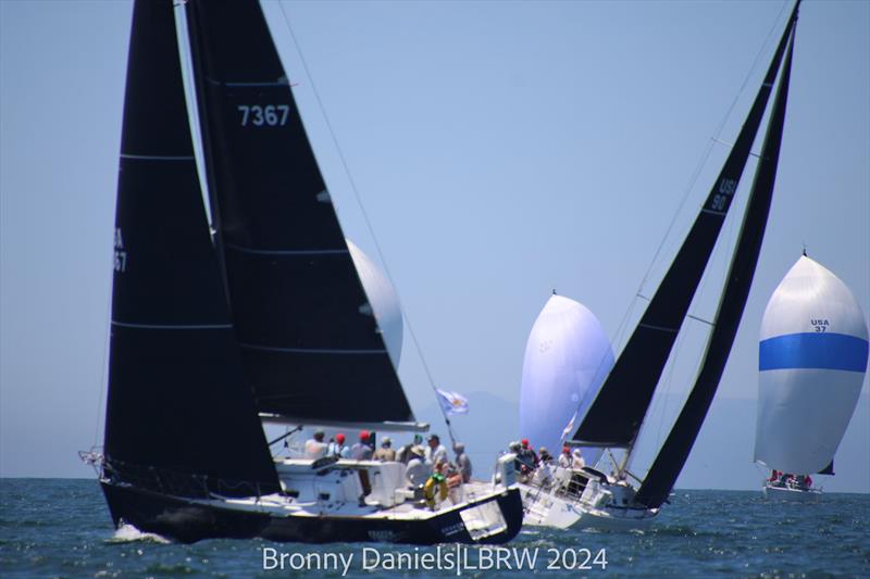
[{"label": "white spinnaker partly hidden behind the black 7367 mainsail's edge", "polygon": [[357,267],[357,273],[369,297],[372,310],[374,311],[377,326],[381,328],[384,343],[393,361],[393,365],[398,369],[401,358],[402,341],[402,317],[399,298],[389,280],[381,273],[375,263],[351,240],[345,239],[350,250],[350,257]]}]

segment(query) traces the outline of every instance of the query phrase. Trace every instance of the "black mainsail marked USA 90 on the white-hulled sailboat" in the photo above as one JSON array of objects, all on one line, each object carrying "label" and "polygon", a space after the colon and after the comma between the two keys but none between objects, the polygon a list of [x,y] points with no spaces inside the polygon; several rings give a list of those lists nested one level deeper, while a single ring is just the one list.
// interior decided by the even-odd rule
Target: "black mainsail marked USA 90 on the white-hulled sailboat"
[{"label": "black mainsail marked USA 90 on the white-hulled sailboat", "polygon": [[719,177],[641,322],[574,433],[575,444],[627,448],[637,437],[737,190],[796,15],[797,4]]}]

